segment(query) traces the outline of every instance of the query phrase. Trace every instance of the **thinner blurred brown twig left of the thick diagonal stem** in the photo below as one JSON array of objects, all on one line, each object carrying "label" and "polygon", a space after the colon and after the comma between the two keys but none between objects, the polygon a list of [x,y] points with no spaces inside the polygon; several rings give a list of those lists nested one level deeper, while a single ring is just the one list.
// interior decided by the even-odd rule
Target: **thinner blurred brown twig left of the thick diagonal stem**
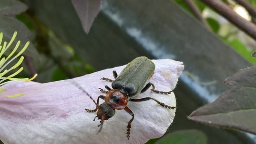
[{"label": "thinner blurred brown twig left of the thick diagonal stem", "polygon": [[187,4],[187,6],[190,8],[192,13],[195,15],[197,20],[199,20],[204,26],[206,26],[208,29],[210,29],[210,26],[208,25],[207,21],[202,17],[199,9],[195,5],[195,3],[192,0],[184,0],[184,2]]}]

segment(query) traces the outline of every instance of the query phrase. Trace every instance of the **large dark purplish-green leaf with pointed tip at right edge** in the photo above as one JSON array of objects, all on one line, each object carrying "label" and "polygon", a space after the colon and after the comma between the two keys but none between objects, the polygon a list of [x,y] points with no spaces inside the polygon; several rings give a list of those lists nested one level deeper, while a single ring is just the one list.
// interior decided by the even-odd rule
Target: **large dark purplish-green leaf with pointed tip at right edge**
[{"label": "large dark purplish-green leaf with pointed tip at right edge", "polygon": [[241,70],[226,79],[231,88],[213,103],[188,117],[212,126],[256,134],[256,67]]}]

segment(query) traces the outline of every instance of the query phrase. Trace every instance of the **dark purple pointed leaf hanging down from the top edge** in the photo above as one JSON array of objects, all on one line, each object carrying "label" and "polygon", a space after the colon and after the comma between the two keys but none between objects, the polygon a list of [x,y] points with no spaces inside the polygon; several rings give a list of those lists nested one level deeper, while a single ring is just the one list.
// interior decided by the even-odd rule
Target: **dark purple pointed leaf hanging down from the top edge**
[{"label": "dark purple pointed leaf hanging down from the top edge", "polygon": [[72,0],[72,3],[84,31],[89,33],[90,27],[100,11],[101,0]]}]

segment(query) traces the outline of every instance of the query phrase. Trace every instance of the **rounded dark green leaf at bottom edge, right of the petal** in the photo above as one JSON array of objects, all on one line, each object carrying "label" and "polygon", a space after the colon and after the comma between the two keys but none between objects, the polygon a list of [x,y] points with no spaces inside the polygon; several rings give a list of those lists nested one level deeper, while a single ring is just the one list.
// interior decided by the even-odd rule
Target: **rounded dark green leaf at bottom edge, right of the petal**
[{"label": "rounded dark green leaf at bottom edge, right of the petal", "polygon": [[180,130],[166,134],[155,144],[207,144],[207,136],[199,130]]}]

